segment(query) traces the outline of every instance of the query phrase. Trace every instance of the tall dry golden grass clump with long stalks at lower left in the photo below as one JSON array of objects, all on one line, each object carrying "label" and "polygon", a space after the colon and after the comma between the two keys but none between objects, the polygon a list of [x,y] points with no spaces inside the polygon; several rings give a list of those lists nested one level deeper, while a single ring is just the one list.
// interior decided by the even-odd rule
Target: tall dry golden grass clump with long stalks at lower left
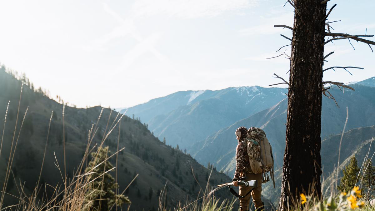
[{"label": "tall dry golden grass clump with long stalks at lower left", "polygon": [[[17,150],[18,139],[20,137],[20,133],[21,133],[21,130],[22,130],[22,127],[23,127],[24,119],[27,115],[27,110],[28,110],[28,109],[26,109],[26,112],[24,114],[21,126],[18,129],[17,128],[17,121],[19,119],[21,99],[22,99],[22,86],[21,86],[20,99],[19,99],[19,102],[18,102],[17,119],[16,119],[16,124],[15,124],[14,132],[13,132],[13,138],[12,138],[11,147],[10,147],[9,159],[8,159],[8,162],[7,162],[7,170],[5,172],[5,182],[4,182],[4,185],[3,185],[3,189],[1,191],[0,210],[16,210],[16,211],[18,211],[18,210],[24,210],[24,211],[31,211],[31,210],[32,211],[36,211],[36,210],[62,210],[62,211],[92,210],[93,208],[89,207],[90,201],[88,201],[87,198],[86,198],[87,192],[90,190],[90,184],[92,184],[93,181],[95,181],[96,179],[101,179],[102,176],[105,173],[108,173],[108,172],[114,170],[115,168],[117,168],[117,161],[116,161],[116,166],[114,168],[104,172],[102,175],[99,175],[98,177],[96,177],[96,178],[94,178],[90,181],[87,179],[86,175],[89,175],[91,172],[88,172],[88,173],[84,172],[84,170],[86,168],[86,163],[87,163],[86,161],[90,160],[89,159],[90,152],[92,152],[94,149],[96,149],[96,144],[92,146],[92,141],[95,137],[96,132],[98,131],[98,122],[101,118],[103,110],[99,115],[99,118],[98,118],[98,121],[95,124],[95,127],[94,127],[94,124],[93,124],[92,125],[93,127],[89,131],[89,139],[87,141],[86,151],[83,155],[81,163],[78,165],[77,170],[75,170],[75,172],[74,172],[73,178],[68,179],[67,176],[66,176],[65,137],[63,137],[63,140],[64,140],[64,142],[63,142],[63,145],[64,145],[63,146],[64,147],[64,164],[63,164],[64,166],[63,166],[63,169],[60,168],[60,164],[58,163],[57,158],[55,156],[55,166],[60,171],[62,182],[61,182],[61,184],[58,184],[56,186],[51,186],[49,184],[40,184],[40,178],[41,178],[41,175],[42,175],[43,164],[44,164],[44,161],[45,161],[45,154],[46,154],[46,150],[47,150],[46,146],[48,144],[49,131],[50,131],[50,126],[51,126],[51,121],[52,121],[52,116],[53,116],[53,112],[52,112],[51,117],[49,119],[49,126],[48,126],[45,149],[44,149],[44,154],[43,154],[43,161],[42,161],[42,165],[40,167],[39,179],[36,183],[36,186],[35,186],[34,190],[32,190],[31,194],[30,193],[27,194],[26,191],[25,191],[25,184],[24,183],[23,184],[22,183],[17,184],[17,182],[16,182],[15,186],[18,190],[18,196],[12,195],[10,193],[6,193],[5,190],[7,188],[7,184],[9,182],[9,179],[15,180],[14,175],[11,174],[12,173],[11,169],[12,169],[14,157],[17,153],[16,150]],[[7,115],[7,112],[8,112],[9,103],[8,103],[7,110],[6,110],[6,115]],[[65,105],[63,107],[63,131],[65,131],[64,110],[65,110]],[[5,121],[4,121],[3,134],[2,134],[2,137],[1,137],[0,154],[1,154],[1,149],[2,149],[2,145],[3,145],[2,143],[3,143],[4,131],[5,131],[5,127],[6,127],[6,115],[5,115]],[[113,124],[110,127],[110,131],[108,131],[108,133],[105,134],[106,136],[102,138],[102,142],[101,142],[100,146],[102,146],[105,143],[105,140],[110,135],[110,133],[114,130],[114,128],[117,127],[117,125],[119,124],[119,122],[121,121],[121,118],[123,116],[124,116],[124,114],[122,116],[120,116],[120,118],[118,118],[118,120],[117,120],[117,118],[115,119],[115,120],[117,120],[117,122],[116,121],[113,122]],[[109,119],[108,119],[108,121],[109,121]],[[107,126],[108,126],[108,124],[107,124]],[[18,131],[18,135],[17,135],[17,131]],[[17,139],[16,139],[16,135],[17,135]],[[63,133],[63,136],[65,136],[65,133]],[[124,148],[117,149],[117,151],[114,154],[112,154],[111,156],[108,156],[105,159],[105,161],[107,161],[108,159],[110,159],[114,155],[117,155],[118,152],[122,151],[123,149]],[[98,155],[97,152],[98,151],[96,151],[96,155]],[[95,158],[95,156],[93,156],[91,158],[91,160],[93,160],[94,158]],[[117,157],[116,157],[116,159],[117,159]],[[105,162],[105,161],[103,161],[103,162]],[[98,164],[96,167],[98,167],[100,164]],[[94,167],[93,169],[95,169],[96,167]],[[10,178],[11,176],[13,178]],[[135,178],[137,176],[135,176]],[[134,181],[134,179],[133,179],[133,181]],[[130,182],[130,184],[132,182]],[[129,187],[129,185],[128,185],[128,187]],[[51,195],[43,194],[43,191],[45,191],[47,187],[52,188],[53,193]],[[125,188],[125,190],[126,190],[126,188]],[[118,190],[116,190],[116,191],[118,191]],[[5,198],[6,195],[17,198],[18,203],[15,204],[15,205],[10,205],[10,206],[5,207],[4,206],[4,198]],[[43,195],[43,196],[39,197],[41,195]],[[113,206],[115,206],[115,204]]]}]

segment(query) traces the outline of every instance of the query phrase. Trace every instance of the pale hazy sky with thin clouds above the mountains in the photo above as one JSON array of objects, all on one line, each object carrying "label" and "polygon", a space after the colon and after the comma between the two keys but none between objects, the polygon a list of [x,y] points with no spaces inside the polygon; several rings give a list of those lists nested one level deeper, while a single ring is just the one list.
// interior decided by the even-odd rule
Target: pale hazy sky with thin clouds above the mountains
[{"label": "pale hazy sky with thin clouds above the mountains", "polygon": [[[293,8],[278,0],[0,0],[0,62],[78,107],[125,107],[179,90],[267,86],[288,79]],[[332,0],[335,32],[375,34],[374,0]],[[370,38],[375,40],[374,38]],[[326,45],[324,80],[375,75],[368,45]],[[373,47],[374,48],[374,47]],[[290,55],[290,46],[285,50]],[[374,48],[375,50],[375,48]]]}]

